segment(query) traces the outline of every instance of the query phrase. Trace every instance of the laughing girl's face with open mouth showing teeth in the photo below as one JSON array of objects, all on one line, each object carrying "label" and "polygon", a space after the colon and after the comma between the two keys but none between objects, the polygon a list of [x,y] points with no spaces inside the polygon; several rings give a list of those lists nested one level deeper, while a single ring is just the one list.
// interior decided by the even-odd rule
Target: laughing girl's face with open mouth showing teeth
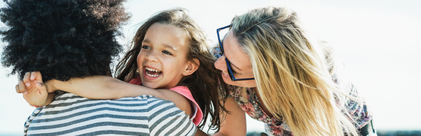
[{"label": "laughing girl's face with open mouth showing teeth", "polygon": [[137,64],[143,86],[170,89],[183,76],[191,74],[189,66],[192,64],[186,58],[189,49],[187,33],[182,29],[155,23],[141,42]]}]

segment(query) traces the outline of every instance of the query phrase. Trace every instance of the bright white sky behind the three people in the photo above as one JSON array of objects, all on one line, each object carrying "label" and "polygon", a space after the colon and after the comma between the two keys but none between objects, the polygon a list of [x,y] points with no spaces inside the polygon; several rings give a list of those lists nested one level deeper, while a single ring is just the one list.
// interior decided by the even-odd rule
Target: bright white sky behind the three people
[{"label": "bright white sky behind the three people", "polygon": [[[216,29],[228,25],[235,15],[269,5],[290,7],[314,38],[336,49],[349,77],[373,110],[376,128],[421,130],[419,0],[129,0],[126,5],[133,17],[124,27],[122,44],[133,37],[135,29],[131,26],[168,8],[187,8],[208,39],[216,42]],[[7,70],[0,70],[0,134],[21,133],[34,108],[16,94],[17,78],[6,77]],[[247,126],[248,131],[264,131],[263,123],[251,118]]]}]

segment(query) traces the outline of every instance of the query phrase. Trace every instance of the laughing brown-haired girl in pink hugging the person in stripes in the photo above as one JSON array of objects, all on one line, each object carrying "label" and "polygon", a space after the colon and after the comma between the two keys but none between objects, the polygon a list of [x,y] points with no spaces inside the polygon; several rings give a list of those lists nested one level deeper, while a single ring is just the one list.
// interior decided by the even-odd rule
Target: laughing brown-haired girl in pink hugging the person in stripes
[{"label": "laughing brown-haired girl in pink hugging the person in stripes", "polygon": [[55,95],[47,92],[56,90],[89,99],[152,95],[174,102],[199,128],[209,116],[210,127],[219,128],[219,114],[224,107],[218,93],[224,85],[219,85],[221,74],[213,65],[216,60],[209,48],[203,32],[185,9],[164,10],[141,24],[129,51],[117,65],[116,78],[91,76],[43,83],[40,72],[28,72],[17,91],[27,93],[37,84],[37,89],[32,89],[38,91],[33,93],[36,96],[26,98],[37,106],[50,104]]}]

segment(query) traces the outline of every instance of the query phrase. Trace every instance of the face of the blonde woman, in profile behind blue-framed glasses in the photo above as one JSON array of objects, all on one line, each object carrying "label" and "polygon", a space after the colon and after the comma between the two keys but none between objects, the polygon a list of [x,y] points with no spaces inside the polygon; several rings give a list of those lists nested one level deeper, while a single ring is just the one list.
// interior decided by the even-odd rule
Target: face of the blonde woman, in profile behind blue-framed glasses
[{"label": "face of the blonde woman, in profile behind blue-framed glasses", "polygon": [[[225,35],[223,42],[222,45],[224,45],[225,57],[231,62],[230,67],[233,70],[232,72],[234,73],[235,78],[253,78],[251,60],[248,55],[240,49],[232,30]],[[215,68],[222,71],[222,79],[224,79],[226,84],[242,87],[256,87],[256,80],[231,81],[224,56],[218,58],[215,62]]]}]

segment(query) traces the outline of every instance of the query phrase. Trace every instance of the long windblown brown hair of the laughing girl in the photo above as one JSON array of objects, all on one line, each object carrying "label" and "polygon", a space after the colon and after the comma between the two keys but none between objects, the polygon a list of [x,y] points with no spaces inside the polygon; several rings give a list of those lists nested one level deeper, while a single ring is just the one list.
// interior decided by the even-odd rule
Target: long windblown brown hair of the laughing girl
[{"label": "long windblown brown hair of the laughing girl", "polygon": [[[203,111],[203,120],[207,120],[210,116],[211,123],[209,127],[218,131],[221,123],[219,115],[226,111],[224,106],[219,102],[219,93],[227,94],[226,85],[222,81],[221,74],[218,73],[214,66],[216,58],[210,53],[210,46],[206,43],[203,31],[188,16],[186,9],[173,8],[163,10],[142,22],[135,37],[133,37],[128,52],[117,65],[115,72],[115,75],[117,75],[116,78],[128,82],[139,76],[139,73],[136,72],[138,69],[137,55],[139,55],[141,50],[141,43],[147,29],[155,23],[176,26],[187,32],[187,38],[189,39],[187,60],[192,61],[193,59],[198,59],[200,64],[197,64],[199,68],[192,75],[182,78],[177,86],[187,86],[190,89],[193,98]],[[222,81],[222,84],[219,84],[219,81]],[[224,96],[226,97],[226,95]],[[198,128],[203,128],[203,126],[205,126],[205,121],[202,121]]]}]

